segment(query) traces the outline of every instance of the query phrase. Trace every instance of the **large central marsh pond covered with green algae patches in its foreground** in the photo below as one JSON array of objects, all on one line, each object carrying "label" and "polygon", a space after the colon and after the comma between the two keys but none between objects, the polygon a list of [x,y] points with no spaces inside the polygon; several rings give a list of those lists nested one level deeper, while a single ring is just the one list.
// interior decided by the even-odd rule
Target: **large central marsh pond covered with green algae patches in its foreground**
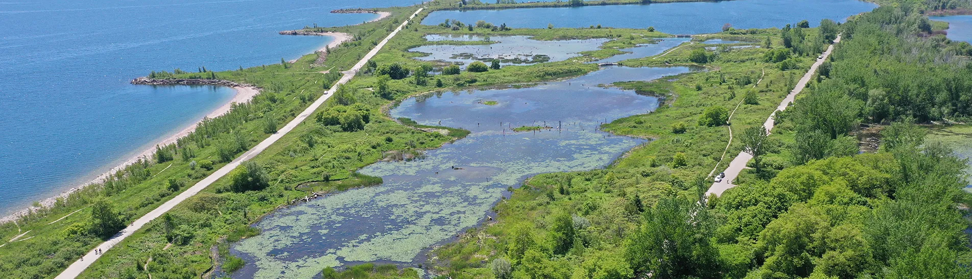
[{"label": "large central marsh pond covered with green algae patches in its foreground", "polygon": [[[658,99],[596,85],[688,71],[609,67],[538,87],[406,99],[392,110],[394,117],[472,133],[429,151],[425,159],[378,162],[361,170],[381,176],[382,185],[338,192],[263,218],[256,225],[259,235],[233,245],[232,252],[247,262],[233,278],[310,278],[326,266],[349,262],[413,262],[427,247],[479,224],[507,187],[539,173],[604,167],[644,143],[596,128],[654,110]],[[553,127],[561,122],[562,130],[509,130],[543,122]]]}]

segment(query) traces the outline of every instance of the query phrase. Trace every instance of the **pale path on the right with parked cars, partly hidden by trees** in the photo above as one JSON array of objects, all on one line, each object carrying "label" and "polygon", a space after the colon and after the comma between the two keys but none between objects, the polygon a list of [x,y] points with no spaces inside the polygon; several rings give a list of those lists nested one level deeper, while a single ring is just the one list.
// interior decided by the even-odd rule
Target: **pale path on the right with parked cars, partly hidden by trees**
[{"label": "pale path on the right with parked cars, partly hidden by trees", "polygon": [[[834,39],[834,44],[840,42],[841,42],[841,35],[837,35],[837,39]],[[816,68],[819,67],[820,64],[823,64],[823,61],[826,60],[827,57],[830,56],[830,52],[833,51],[834,51],[834,45],[831,44],[830,46],[827,47],[827,51],[823,52],[823,57],[816,59],[814,65],[810,66],[810,71],[807,71],[807,74],[803,75],[803,78],[801,78],[800,82],[796,84],[796,87],[794,87],[793,90],[790,91],[790,93],[787,94],[785,98],[783,98],[783,100],[780,102],[780,106],[777,106],[777,110],[774,111],[773,114],[770,115],[770,118],[766,119],[766,122],[763,123],[763,126],[766,127],[767,132],[773,130],[773,124],[776,123],[773,120],[773,116],[775,116],[777,112],[785,110],[786,107],[793,102],[793,98],[796,97],[796,94],[800,93],[800,91],[802,91],[804,87],[807,87],[807,83],[810,82],[810,79],[813,78],[814,73],[816,73]],[[732,181],[736,180],[736,177],[739,176],[739,173],[742,172],[744,168],[746,168],[746,162],[748,162],[749,159],[752,159],[751,155],[745,152],[740,152],[739,155],[736,156],[736,158],[734,158],[731,162],[729,162],[729,166],[726,167],[726,170],[724,171],[726,173],[726,177],[722,178],[722,182],[712,183],[712,187],[709,188],[709,191],[706,192],[706,195],[708,196],[711,193],[714,193],[715,195],[721,195],[722,192],[725,192],[726,190],[736,187],[735,185],[732,184]]]}]

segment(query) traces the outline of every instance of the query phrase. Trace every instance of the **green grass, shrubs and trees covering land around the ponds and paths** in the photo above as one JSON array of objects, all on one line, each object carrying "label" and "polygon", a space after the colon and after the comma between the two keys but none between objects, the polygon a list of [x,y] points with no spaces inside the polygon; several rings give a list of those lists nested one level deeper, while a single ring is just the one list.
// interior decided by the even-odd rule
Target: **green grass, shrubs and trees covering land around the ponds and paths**
[{"label": "green grass, shrubs and trees covering land around the ponds and paths", "polygon": [[[488,22],[417,23],[432,10],[617,3],[641,1],[427,4],[433,9],[407,24],[369,61],[364,74],[314,112],[313,121],[300,123],[260,156],[135,232],[82,277],[188,278],[211,276],[215,266],[240,268],[245,262],[229,255],[228,242],[258,235],[251,225],[261,216],[297,198],[380,184],[381,178],[356,170],[469,135],[456,127],[393,120],[385,110],[395,101],[445,89],[579,76],[598,69],[585,61],[667,36],[650,27],[510,29]],[[432,272],[457,279],[646,274],[968,278],[972,270],[964,262],[972,253],[962,230],[968,227],[963,208],[970,199],[961,191],[968,184],[966,165],[946,145],[924,140],[924,128],[914,124],[967,122],[972,115],[968,52],[936,35],[934,25],[919,13],[951,7],[936,3],[885,5],[844,24],[824,20],[818,28],[807,28],[804,22],[745,31],[728,26],[702,39],[752,42],[760,48],[710,50],[685,44],[662,55],[622,61],[627,66],[702,66],[706,71],[606,85],[661,97],[663,103],[654,112],[602,126],[653,141],[606,169],[541,174],[511,188],[509,197],[494,207],[495,221],[491,218],[435,248],[420,266],[423,270],[364,263],[343,270],[320,266],[323,276],[419,278]],[[225,116],[201,122],[177,143],[157,147],[155,157],[60,198],[51,208],[0,225],[3,239],[18,239],[0,247],[0,272],[15,278],[56,275],[124,224],[292,120],[340,78],[339,71],[351,68],[416,9],[385,9],[393,16],[361,25],[308,28],[353,34],[354,40],[328,50],[323,61],[318,58],[324,53],[313,53],[293,63],[233,71],[152,72],[156,79],[220,79],[254,85],[261,92]],[[473,43],[430,42],[427,34],[609,41],[601,50],[566,61],[534,56],[530,62],[536,65],[501,67],[500,60],[489,59],[489,65],[476,61],[461,71],[454,64],[415,60],[422,53],[408,50]],[[793,108],[776,116],[773,133],[753,133],[837,34],[843,42]],[[330,73],[319,73],[326,70]],[[861,123],[884,128],[879,151],[858,155]],[[551,127],[513,131],[546,128]],[[730,131],[737,136],[731,143]],[[750,137],[754,140],[746,139]],[[706,196],[708,174],[732,159],[723,154],[754,152],[754,142],[760,156],[733,182],[739,187]]]}]

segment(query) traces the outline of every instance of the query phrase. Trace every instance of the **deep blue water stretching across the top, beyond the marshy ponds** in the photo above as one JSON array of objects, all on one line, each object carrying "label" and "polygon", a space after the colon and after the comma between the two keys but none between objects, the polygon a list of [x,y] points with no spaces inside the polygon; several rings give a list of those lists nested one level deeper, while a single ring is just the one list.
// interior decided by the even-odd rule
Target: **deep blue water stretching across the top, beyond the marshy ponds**
[{"label": "deep blue water stretching across the top, beyond the marshy ponds", "polygon": [[422,24],[434,25],[447,18],[463,22],[486,20],[513,28],[588,27],[590,25],[647,28],[670,34],[701,34],[721,31],[722,24],[736,28],[782,27],[807,19],[816,26],[821,19],[845,21],[878,5],[857,0],[745,0],[649,5],[585,6],[475,11],[439,11]]}]

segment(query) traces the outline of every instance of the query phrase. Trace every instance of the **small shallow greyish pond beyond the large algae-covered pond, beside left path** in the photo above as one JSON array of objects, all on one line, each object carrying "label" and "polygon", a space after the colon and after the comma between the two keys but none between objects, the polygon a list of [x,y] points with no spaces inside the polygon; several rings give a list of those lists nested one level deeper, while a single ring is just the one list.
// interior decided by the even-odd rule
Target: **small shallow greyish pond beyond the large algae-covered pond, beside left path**
[{"label": "small shallow greyish pond beyond the large algae-covered pond, beside left path", "polygon": [[[427,35],[426,40],[442,41],[483,41],[481,36]],[[469,64],[473,61],[491,62],[500,59],[500,64],[534,64],[541,62],[563,61],[579,56],[577,52],[597,50],[608,39],[538,41],[530,36],[497,36],[490,38],[497,43],[489,45],[430,45],[413,48],[409,52],[430,53],[416,59],[425,61],[446,61]]]}]

